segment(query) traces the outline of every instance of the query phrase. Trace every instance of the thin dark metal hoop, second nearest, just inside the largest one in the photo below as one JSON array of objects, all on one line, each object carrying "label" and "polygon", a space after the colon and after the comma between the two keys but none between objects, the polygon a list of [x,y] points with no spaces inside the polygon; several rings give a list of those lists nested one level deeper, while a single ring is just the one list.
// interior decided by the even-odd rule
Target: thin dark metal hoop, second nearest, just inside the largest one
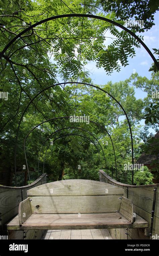
[{"label": "thin dark metal hoop, second nearest, just inside the largest one", "polygon": [[[42,91],[40,91],[30,102],[29,104],[27,105],[27,107],[24,109],[23,113],[22,113],[22,116],[20,118],[20,121],[19,121],[19,124],[18,124],[18,128],[17,128],[17,133],[16,133],[16,141],[15,141],[15,151],[14,151],[14,170],[15,170],[15,177],[16,177],[16,146],[17,146],[17,137],[18,137],[18,132],[19,132],[19,128],[20,128],[20,123],[21,123],[21,120],[25,114],[25,112],[27,111],[28,107],[30,106],[30,104],[33,102],[33,100],[38,96],[40,95],[42,92],[44,92],[45,90],[51,88],[51,87],[55,87],[57,85],[61,85],[61,84],[74,84],[75,82],[63,82],[63,83],[58,83],[58,84],[55,84],[55,85],[51,85],[47,88],[44,88]],[[130,130],[130,137],[131,137],[131,150],[132,150],[132,164],[134,166],[134,147],[133,147],[133,135],[132,135],[132,131],[131,131],[131,126],[130,126],[130,122],[129,122],[129,119],[128,119],[128,116],[126,114],[126,111],[124,110],[124,108],[122,107],[122,105],[118,102],[117,99],[115,99],[110,93],[108,93],[107,91],[103,90],[102,88],[98,87],[98,86],[95,86],[95,85],[91,85],[91,84],[88,84],[88,83],[82,83],[82,82],[76,82],[76,84],[84,84],[84,85],[88,85],[88,86],[92,86],[96,89],[99,89],[101,91],[103,91],[104,93],[107,93],[112,99],[114,99],[118,105],[121,107],[121,109],[123,110],[125,116],[126,116],[126,119],[127,119],[127,122],[128,122],[128,126],[129,126],[129,130]],[[47,121],[50,121],[52,119],[48,119]],[[46,122],[46,121],[45,121]],[[32,129],[33,130],[33,129]],[[31,130],[31,132],[32,132]],[[111,140],[112,141],[112,140]],[[113,146],[113,150],[114,150],[114,146]],[[115,152],[115,151],[114,151]],[[26,158],[26,156],[25,156]],[[28,168],[28,164],[27,164],[27,168]],[[134,184],[134,169],[132,170],[132,184]]]}]

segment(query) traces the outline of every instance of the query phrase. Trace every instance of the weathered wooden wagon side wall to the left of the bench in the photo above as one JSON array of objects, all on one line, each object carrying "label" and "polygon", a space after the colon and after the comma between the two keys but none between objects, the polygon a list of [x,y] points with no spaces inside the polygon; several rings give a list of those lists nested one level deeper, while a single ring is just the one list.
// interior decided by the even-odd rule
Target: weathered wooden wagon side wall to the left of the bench
[{"label": "weathered wooden wagon side wall to the left of the bench", "polygon": [[7,187],[0,185],[0,233],[8,235],[8,239],[41,239],[43,230],[10,230],[7,231],[5,224],[18,214],[18,206],[27,198],[27,190],[46,183],[46,173],[36,181],[23,187]]}]

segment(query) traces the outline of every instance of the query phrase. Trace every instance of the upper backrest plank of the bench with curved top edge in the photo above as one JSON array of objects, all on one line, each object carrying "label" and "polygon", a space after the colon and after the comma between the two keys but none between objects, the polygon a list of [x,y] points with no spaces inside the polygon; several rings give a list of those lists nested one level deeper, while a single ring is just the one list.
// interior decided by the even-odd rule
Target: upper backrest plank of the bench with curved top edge
[{"label": "upper backrest plank of the bench with curved top edge", "polygon": [[123,189],[99,181],[62,180],[28,190],[28,196],[123,195]]}]

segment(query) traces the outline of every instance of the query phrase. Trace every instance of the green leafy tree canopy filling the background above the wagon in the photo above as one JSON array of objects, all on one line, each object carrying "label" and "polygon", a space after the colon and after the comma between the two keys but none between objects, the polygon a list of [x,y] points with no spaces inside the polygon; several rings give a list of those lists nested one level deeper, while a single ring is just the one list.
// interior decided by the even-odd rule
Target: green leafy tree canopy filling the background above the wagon
[{"label": "green leafy tree canopy filling the background above the wagon", "polygon": [[[123,16],[125,19],[130,14],[133,17],[132,1],[129,2],[129,8],[122,9],[121,1],[117,1],[115,6],[108,2],[106,8],[104,1],[100,3],[94,0],[88,0],[87,3],[78,0],[3,0],[0,4],[0,51],[31,24],[59,14],[96,14],[123,25]],[[143,2],[146,4],[147,1]],[[150,18],[144,29],[153,26],[153,13],[156,8],[150,1],[146,9]],[[139,18],[144,19],[144,13]],[[106,46],[108,30],[112,42]],[[133,29],[132,31],[136,32]],[[94,61],[108,75],[114,70],[119,72],[121,66],[128,65],[129,57],[135,56],[135,47],[140,47],[139,42],[125,31],[101,20],[81,17],[67,17],[42,23],[10,45],[0,60],[1,92],[7,92],[8,96],[8,100],[0,99],[0,151],[2,166],[8,166],[14,173],[16,157],[17,173],[25,173],[25,179],[23,172],[17,174],[18,186],[23,185],[24,180],[26,183],[28,179],[24,139],[35,126],[46,120],[49,121],[34,129],[25,143],[29,169],[35,170],[31,173],[31,180],[37,178],[39,160],[39,174],[44,168],[48,181],[77,178],[98,180],[100,168],[108,171],[110,175],[113,169],[115,178],[115,151],[118,181],[131,183],[131,171],[123,168],[124,163],[131,163],[130,131],[123,110],[109,94],[120,102],[127,113],[137,159],[141,154],[140,146],[149,137],[148,129],[158,129],[158,102],[151,97],[159,88],[158,72],[151,70],[150,79],[133,73],[124,81],[108,82],[99,86],[92,81],[90,71],[85,66]],[[61,81],[62,85],[53,86]],[[82,83],[97,86],[108,94]],[[146,92],[147,97],[136,99],[135,88]],[[60,118],[73,115],[87,116],[97,124],[70,123],[69,118]],[[145,120],[144,128],[140,124],[141,120]],[[47,139],[53,132],[65,127],[70,128],[60,130]],[[86,129],[94,134],[102,145],[106,164],[97,140],[88,132],[75,128]],[[108,133],[111,135],[114,150]],[[67,136],[60,137],[62,135]],[[54,139],[56,140],[53,142]],[[137,184],[150,183],[152,178],[145,173],[140,181],[140,171],[135,177]]]}]

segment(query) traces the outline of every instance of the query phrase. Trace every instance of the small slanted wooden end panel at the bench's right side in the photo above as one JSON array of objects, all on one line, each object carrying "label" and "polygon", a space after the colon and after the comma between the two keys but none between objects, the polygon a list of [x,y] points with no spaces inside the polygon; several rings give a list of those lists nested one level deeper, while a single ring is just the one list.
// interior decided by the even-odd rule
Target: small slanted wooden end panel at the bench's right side
[{"label": "small slanted wooden end panel at the bench's right side", "polygon": [[119,213],[121,213],[129,222],[134,222],[134,206],[129,199],[122,197]]}]

